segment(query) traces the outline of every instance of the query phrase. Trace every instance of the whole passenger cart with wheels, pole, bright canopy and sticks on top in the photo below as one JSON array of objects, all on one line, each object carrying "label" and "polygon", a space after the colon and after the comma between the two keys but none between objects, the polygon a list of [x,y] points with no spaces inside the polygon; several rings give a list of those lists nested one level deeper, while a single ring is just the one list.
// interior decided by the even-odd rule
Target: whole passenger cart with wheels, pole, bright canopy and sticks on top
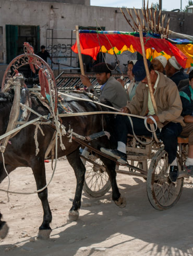
[{"label": "whole passenger cart with wheels, pole, bright canopy and sticks on top", "polygon": [[[145,6],[145,3],[143,6]],[[122,9],[120,10],[122,11]],[[159,15],[156,15],[156,9],[153,10],[152,7],[150,9],[148,9],[148,6],[147,9],[144,7],[141,13],[139,10],[138,13],[135,10],[135,19],[128,9],[129,18],[126,17],[123,11],[122,13],[132,28],[132,32],[80,31],[80,38],[72,49],[79,55],[81,51],[83,54],[92,56],[93,59],[96,59],[99,52],[114,54],[115,57],[116,54],[124,51],[141,53],[146,66],[150,96],[156,114],[156,103],[151,88],[147,59],[152,60],[158,55],[164,55],[167,59],[175,56],[182,67],[188,68],[193,65],[192,37],[169,30],[169,20],[164,28],[165,16],[161,18],[161,11]],[[132,21],[130,21],[130,18]],[[156,18],[158,21],[156,21]],[[181,39],[169,39],[168,35],[177,36]],[[86,149],[83,150],[81,158],[87,170],[83,189],[90,196],[102,196],[111,188],[105,166],[99,157],[105,155],[102,152],[96,152],[90,145],[84,146],[86,146]],[[161,141],[156,137],[151,139],[143,136],[139,140],[136,136],[128,134],[127,164],[120,165],[116,162],[116,172],[146,179],[147,194],[151,205],[157,210],[165,210],[172,207],[179,200],[182,193],[184,178],[187,177],[187,173],[183,171],[187,149],[187,138],[179,137],[177,154],[179,176],[174,183],[169,179],[168,157]],[[109,156],[106,157],[110,158]]]}]

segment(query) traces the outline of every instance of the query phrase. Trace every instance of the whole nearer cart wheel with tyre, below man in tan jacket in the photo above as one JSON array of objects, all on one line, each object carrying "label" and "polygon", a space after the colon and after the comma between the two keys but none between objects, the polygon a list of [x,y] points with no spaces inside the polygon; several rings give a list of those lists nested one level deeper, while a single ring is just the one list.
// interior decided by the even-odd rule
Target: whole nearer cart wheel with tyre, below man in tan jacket
[{"label": "whole nearer cart wheel with tyre, below man in tan jacket", "polygon": [[[180,171],[179,162],[178,168]],[[173,183],[169,179],[169,172],[167,153],[160,149],[151,160],[147,177],[148,199],[156,210],[171,208],[182,194],[184,178]]]}]

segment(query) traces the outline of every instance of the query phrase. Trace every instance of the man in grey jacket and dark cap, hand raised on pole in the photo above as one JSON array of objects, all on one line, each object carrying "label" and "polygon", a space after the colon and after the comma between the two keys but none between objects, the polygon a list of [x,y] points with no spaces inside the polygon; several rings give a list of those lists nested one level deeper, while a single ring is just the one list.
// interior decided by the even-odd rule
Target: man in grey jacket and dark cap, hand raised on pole
[{"label": "man in grey jacket and dark cap, hand raised on pole", "polygon": [[[127,104],[128,96],[123,86],[112,77],[112,66],[104,62],[96,64],[93,71],[96,73],[97,82],[101,85],[100,101],[108,100],[114,108],[120,109]],[[87,86],[89,90],[94,90],[89,78],[81,75],[81,82]],[[96,91],[94,90],[96,97]]]}]

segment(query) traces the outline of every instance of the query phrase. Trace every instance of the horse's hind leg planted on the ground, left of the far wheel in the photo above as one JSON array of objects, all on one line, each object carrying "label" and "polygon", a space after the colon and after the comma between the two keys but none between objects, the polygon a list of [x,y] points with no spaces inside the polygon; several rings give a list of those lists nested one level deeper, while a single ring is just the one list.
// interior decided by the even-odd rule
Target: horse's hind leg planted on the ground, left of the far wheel
[{"label": "horse's hind leg planted on the ground, left of the far wheel", "polygon": [[75,176],[76,176],[76,193],[75,193],[75,198],[73,201],[73,206],[71,207],[69,211],[69,220],[71,222],[75,221],[79,217],[79,209],[81,205],[81,196],[82,196],[82,188],[83,188],[83,183],[85,180],[85,166],[82,164],[82,161],[80,159],[80,153],[79,153],[79,148],[77,148],[73,153],[69,154],[67,156],[68,162],[73,167],[75,171]]}]

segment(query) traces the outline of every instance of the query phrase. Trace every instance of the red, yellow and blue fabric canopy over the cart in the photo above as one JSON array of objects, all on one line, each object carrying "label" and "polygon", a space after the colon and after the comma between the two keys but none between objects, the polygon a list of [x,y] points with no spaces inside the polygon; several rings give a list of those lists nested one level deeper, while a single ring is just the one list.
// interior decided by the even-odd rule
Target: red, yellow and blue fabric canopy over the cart
[{"label": "red, yellow and blue fabric canopy over the cart", "polygon": [[[138,32],[80,30],[81,53],[90,55],[94,60],[100,51],[121,54],[124,51],[139,52],[141,43]],[[193,66],[193,43],[188,40],[161,39],[159,34],[143,33],[147,59],[164,55],[167,59],[175,56],[182,67]],[[71,49],[78,53],[77,43]]]}]

